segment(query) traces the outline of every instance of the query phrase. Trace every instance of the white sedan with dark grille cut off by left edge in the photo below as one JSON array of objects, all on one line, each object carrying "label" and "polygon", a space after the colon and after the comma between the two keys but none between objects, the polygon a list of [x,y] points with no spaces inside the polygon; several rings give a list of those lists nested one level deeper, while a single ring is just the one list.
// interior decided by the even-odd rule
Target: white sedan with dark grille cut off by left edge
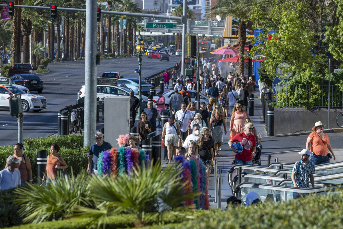
[{"label": "white sedan with dark grille cut off by left edge", "polygon": [[46,98],[42,95],[27,94],[23,90],[19,89],[17,85],[0,85],[0,107],[9,108],[9,98],[12,94],[16,93],[22,93],[21,99],[23,112],[28,112],[29,110],[38,112],[42,111],[43,109],[46,109],[48,106]]}]

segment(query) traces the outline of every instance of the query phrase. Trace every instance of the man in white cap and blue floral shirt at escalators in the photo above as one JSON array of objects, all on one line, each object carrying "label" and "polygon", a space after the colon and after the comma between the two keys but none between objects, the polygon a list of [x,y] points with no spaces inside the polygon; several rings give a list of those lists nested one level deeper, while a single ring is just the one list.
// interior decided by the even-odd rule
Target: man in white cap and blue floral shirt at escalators
[{"label": "man in white cap and blue floral shirt at escalators", "polygon": [[[300,161],[295,162],[292,169],[292,182],[294,187],[309,188],[309,181],[312,187],[315,187],[315,180],[313,174],[315,173],[315,165],[309,161],[310,151],[303,149],[298,152],[301,157]],[[297,198],[298,194],[293,193],[293,198]]]}]

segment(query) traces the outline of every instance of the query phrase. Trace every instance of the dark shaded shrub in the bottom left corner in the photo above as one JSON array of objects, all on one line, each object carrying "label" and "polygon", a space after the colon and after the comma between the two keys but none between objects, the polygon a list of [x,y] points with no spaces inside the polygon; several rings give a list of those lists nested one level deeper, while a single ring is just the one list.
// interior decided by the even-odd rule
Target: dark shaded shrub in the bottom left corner
[{"label": "dark shaded shrub in the bottom left corner", "polygon": [[18,212],[20,207],[14,201],[19,196],[13,193],[14,188],[0,191],[0,228],[22,224]]}]

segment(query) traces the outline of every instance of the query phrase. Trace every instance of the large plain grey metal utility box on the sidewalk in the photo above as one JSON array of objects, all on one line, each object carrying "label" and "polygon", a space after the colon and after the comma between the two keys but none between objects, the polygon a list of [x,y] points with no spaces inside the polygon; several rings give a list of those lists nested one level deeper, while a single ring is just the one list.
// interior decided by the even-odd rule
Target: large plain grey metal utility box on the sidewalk
[{"label": "large plain grey metal utility box on the sidewalk", "polygon": [[117,138],[130,134],[130,96],[105,97],[104,140],[117,148]]}]

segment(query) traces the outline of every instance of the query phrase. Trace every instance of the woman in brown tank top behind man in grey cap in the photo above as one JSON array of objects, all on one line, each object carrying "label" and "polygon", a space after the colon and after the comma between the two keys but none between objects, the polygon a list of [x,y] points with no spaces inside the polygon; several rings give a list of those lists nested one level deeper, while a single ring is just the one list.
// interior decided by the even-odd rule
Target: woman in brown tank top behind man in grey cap
[{"label": "woman in brown tank top behind man in grey cap", "polygon": [[[28,159],[27,156],[23,154],[23,144],[17,143],[14,145],[13,148],[14,156],[15,158],[19,159],[19,165],[18,170],[20,172],[20,179],[22,182],[22,185],[26,184],[27,182],[32,184],[32,169],[31,169],[31,162],[30,159]],[[8,165],[5,165],[5,169],[8,167]]]}]

